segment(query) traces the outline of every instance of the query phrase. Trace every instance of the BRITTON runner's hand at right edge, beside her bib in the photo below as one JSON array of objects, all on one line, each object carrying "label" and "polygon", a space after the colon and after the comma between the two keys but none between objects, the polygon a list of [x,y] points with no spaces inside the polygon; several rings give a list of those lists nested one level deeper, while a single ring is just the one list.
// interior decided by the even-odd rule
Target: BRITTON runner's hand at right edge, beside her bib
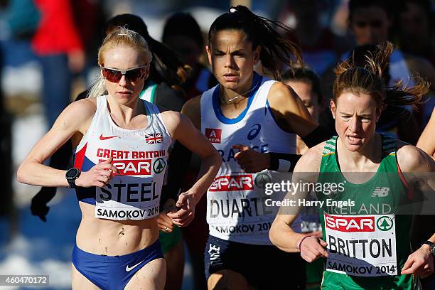
[{"label": "BRITTON runner's hand at right edge, beside her bib", "polygon": [[432,273],[434,273],[434,256],[429,245],[422,245],[410,254],[400,272],[400,274],[417,274],[420,278],[426,278]]}]

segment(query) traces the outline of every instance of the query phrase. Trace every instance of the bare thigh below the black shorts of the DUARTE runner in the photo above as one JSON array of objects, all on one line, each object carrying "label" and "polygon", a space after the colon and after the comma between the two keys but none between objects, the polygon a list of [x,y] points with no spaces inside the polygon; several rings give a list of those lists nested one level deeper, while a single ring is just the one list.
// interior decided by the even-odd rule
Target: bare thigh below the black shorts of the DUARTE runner
[{"label": "bare thigh below the black shorts of the DUARTE runner", "polygon": [[207,288],[208,290],[252,289],[242,274],[227,269],[211,274],[207,280]]}]

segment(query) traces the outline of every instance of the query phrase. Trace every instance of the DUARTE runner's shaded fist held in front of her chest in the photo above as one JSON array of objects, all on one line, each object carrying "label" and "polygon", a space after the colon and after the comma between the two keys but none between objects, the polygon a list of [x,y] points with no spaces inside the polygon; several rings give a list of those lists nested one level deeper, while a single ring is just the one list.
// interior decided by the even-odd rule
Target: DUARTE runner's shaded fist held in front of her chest
[{"label": "DUARTE runner's shaded fist held in front of her chest", "polygon": [[234,158],[246,173],[257,173],[270,167],[269,154],[259,153],[242,144],[235,144],[231,147],[239,150]]}]

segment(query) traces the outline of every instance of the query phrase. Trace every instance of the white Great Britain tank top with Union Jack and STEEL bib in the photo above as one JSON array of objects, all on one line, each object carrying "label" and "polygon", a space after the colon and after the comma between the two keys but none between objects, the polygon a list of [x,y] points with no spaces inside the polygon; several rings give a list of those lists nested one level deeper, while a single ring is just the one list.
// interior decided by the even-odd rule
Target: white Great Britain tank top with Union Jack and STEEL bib
[{"label": "white Great Britain tank top with Union Jack and STEEL bib", "polygon": [[110,117],[107,95],[97,97],[97,110],[77,146],[75,167],[89,171],[113,157],[119,170],[103,188],[77,188],[77,198],[95,205],[95,217],[108,220],[146,220],[159,215],[161,186],[171,136],[159,109],[146,101],[148,126],[123,129]]}]

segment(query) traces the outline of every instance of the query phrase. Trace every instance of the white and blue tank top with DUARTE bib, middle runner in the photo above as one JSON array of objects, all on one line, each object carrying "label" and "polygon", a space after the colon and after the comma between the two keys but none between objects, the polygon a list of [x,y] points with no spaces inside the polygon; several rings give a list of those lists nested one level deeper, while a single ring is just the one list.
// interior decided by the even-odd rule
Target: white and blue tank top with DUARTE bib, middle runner
[{"label": "white and blue tank top with DUARTE bib, middle runner", "polygon": [[[220,110],[219,85],[201,97],[201,131],[222,156],[222,165],[207,192],[207,222],[210,235],[251,245],[272,245],[269,228],[277,207],[267,207],[264,188],[256,185],[259,173],[245,173],[235,161],[234,144],[245,144],[266,153],[295,154],[296,134],[278,127],[267,95],[274,80],[255,74],[247,108],[235,119]],[[262,171],[262,174],[274,171]],[[258,184],[258,183],[257,183]]]}]

